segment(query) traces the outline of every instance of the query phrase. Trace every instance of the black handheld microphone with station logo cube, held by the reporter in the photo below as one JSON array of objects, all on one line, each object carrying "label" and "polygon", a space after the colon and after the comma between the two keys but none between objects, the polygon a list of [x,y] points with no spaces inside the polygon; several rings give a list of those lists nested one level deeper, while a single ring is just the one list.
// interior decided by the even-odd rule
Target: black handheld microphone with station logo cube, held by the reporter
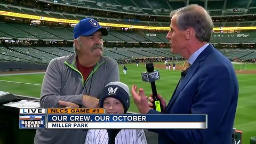
[{"label": "black handheld microphone with station logo cube, held by the reporter", "polygon": [[157,91],[156,91],[156,83],[155,81],[157,79],[160,79],[158,70],[154,70],[154,64],[153,62],[148,62],[146,64],[147,72],[142,72],[141,77],[143,82],[149,82],[151,83],[151,89],[153,93],[153,108],[156,111],[163,112],[163,105],[159,98],[157,97]]}]

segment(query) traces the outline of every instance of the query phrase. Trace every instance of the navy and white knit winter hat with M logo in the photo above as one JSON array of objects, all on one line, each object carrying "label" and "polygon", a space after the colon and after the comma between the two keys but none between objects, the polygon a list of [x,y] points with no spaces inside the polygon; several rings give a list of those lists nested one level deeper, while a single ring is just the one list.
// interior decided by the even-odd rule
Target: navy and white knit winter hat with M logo
[{"label": "navy and white knit winter hat with M logo", "polygon": [[100,95],[100,107],[103,108],[103,102],[106,98],[111,97],[122,102],[124,106],[124,113],[130,107],[130,90],[129,87],[121,82],[110,82],[108,83],[101,92]]}]

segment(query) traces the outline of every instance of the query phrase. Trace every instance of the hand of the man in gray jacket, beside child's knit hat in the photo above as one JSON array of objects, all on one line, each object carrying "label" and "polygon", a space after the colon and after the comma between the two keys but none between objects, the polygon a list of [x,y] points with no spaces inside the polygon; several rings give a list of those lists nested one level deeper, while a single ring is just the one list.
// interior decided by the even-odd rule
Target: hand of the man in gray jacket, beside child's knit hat
[{"label": "hand of the man in gray jacket, beside child's knit hat", "polygon": [[86,108],[99,108],[99,99],[91,97],[89,95],[83,95],[82,97],[83,105]]}]

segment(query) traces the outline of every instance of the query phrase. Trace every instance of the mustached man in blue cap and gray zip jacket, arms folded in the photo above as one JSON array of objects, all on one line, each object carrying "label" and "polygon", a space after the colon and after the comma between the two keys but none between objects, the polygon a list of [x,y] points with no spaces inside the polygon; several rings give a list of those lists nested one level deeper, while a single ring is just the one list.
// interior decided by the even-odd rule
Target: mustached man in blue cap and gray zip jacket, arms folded
[{"label": "mustached man in blue cap and gray zip jacket, arms folded", "polygon": [[[63,108],[59,101],[98,108],[98,95],[109,82],[119,81],[118,64],[102,56],[102,35],[108,30],[87,18],[74,27],[74,54],[55,58],[47,67],[41,90],[41,108]],[[34,143],[84,143],[87,130],[37,130]]]}]

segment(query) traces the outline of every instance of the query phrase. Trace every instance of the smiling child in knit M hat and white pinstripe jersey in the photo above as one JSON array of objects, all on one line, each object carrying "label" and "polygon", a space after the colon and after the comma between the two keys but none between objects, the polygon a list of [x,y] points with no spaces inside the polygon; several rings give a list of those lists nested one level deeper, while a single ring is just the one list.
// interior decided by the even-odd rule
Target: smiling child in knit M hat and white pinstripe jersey
[{"label": "smiling child in knit M hat and white pinstripe jersey", "polygon": [[[130,107],[129,87],[121,82],[110,82],[100,95],[100,108],[107,114],[125,114]],[[91,129],[88,130],[85,144],[93,143],[146,143],[143,130],[138,129]]]}]

